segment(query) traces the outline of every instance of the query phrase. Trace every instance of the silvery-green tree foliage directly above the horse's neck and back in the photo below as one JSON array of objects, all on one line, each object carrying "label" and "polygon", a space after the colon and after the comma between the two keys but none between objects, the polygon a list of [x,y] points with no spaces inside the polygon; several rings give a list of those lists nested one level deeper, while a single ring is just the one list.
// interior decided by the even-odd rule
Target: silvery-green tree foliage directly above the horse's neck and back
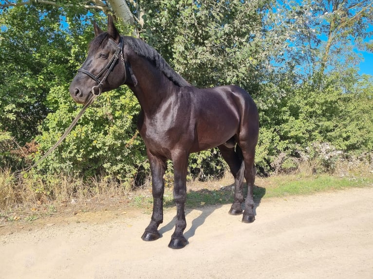
[{"label": "silvery-green tree foliage directly above the horse's neck and back", "polygon": [[[143,36],[191,84],[257,88],[265,1],[144,1]],[[252,91],[252,90],[250,90]]]}]

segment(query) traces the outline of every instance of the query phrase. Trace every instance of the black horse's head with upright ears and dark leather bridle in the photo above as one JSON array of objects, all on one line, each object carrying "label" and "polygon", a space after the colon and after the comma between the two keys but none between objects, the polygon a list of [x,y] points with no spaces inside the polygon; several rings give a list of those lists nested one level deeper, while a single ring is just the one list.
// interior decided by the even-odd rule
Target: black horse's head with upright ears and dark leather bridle
[{"label": "black horse's head with upright ears and dark leather bridle", "polygon": [[70,95],[79,104],[86,104],[92,94],[101,94],[121,86],[126,80],[123,41],[108,16],[108,31],[93,22],[95,38],[88,56],[70,85]]}]

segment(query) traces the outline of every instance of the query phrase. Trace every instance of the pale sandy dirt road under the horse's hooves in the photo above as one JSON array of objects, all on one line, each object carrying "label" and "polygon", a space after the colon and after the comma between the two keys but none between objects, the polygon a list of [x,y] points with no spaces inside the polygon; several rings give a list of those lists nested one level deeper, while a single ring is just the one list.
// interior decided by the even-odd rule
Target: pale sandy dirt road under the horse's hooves
[{"label": "pale sandy dirt road under the horse's hooves", "polygon": [[373,188],[262,199],[253,224],[228,210],[188,209],[181,250],[167,247],[174,209],[150,243],[150,216],[131,212],[5,233],[0,278],[373,278]]}]

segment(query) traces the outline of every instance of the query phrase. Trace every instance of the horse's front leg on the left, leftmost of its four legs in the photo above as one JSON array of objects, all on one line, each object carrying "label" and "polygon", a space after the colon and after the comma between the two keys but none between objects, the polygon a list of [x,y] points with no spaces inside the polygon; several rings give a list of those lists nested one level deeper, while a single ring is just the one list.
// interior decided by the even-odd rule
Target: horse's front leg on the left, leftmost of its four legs
[{"label": "horse's front leg on the left, leftmost of its four legs", "polygon": [[163,222],[163,193],[165,189],[165,174],[166,163],[163,159],[152,155],[147,149],[147,155],[151,170],[151,186],[153,195],[153,214],[149,226],[145,229],[141,238],[144,241],[153,241],[160,238],[158,226]]}]

